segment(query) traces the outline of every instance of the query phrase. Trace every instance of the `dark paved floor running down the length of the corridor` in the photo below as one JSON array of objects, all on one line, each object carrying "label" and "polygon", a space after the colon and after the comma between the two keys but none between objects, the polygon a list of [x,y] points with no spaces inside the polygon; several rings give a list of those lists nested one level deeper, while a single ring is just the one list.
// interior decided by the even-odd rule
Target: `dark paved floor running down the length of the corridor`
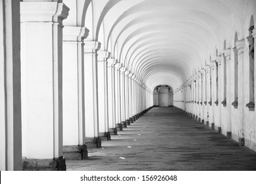
[{"label": "dark paved floor running down the length of the corridor", "polygon": [[256,152],[178,108],[152,108],[118,133],[88,160],[67,160],[67,170],[256,170]]}]

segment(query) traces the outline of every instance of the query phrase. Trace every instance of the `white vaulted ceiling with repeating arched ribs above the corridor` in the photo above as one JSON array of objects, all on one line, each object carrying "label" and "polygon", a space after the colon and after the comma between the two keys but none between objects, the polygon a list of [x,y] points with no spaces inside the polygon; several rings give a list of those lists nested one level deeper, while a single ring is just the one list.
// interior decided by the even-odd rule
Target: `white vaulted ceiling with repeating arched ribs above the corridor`
[{"label": "white vaulted ceiling with repeating arched ribs above the corridor", "polygon": [[86,0],[85,26],[88,39],[101,42],[102,51],[111,52],[149,89],[163,84],[176,89],[222,52],[234,25],[242,32],[249,2]]}]

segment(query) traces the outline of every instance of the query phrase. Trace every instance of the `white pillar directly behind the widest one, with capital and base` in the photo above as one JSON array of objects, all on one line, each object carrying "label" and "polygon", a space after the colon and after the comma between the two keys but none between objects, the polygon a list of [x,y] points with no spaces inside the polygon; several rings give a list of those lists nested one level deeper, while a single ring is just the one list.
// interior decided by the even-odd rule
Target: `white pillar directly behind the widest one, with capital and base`
[{"label": "white pillar directly behind the widest one, with capital and base", "polygon": [[87,150],[84,147],[84,39],[88,32],[79,26],[63,28],[63,152],[66,159],[75,159],[75,155],[81,159],[79,152]]}]

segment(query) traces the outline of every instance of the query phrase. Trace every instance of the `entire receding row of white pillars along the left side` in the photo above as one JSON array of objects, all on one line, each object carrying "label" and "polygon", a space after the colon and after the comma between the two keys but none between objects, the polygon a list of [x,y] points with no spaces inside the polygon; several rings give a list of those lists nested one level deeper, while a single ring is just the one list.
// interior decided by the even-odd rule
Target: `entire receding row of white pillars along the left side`
[{"label": "entire receding row of white pillars along the left side", "polygon": [[90,30],[64,26],[64,3],[0,5],[0,170],[65,170],[65,159],[86,159],[153,106],[152,91]]}]

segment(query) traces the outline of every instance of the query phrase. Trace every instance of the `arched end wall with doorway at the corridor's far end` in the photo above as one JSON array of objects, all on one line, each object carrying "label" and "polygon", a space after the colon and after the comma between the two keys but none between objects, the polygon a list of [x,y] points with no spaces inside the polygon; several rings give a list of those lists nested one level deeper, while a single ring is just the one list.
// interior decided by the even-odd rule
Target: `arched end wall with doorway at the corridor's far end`
[{"label": "arched end wall with doorway at the corridor's far end", "polygon": [[155,106],[173,106],[173,90],[168,85],[159,85],[154,90]]}]

